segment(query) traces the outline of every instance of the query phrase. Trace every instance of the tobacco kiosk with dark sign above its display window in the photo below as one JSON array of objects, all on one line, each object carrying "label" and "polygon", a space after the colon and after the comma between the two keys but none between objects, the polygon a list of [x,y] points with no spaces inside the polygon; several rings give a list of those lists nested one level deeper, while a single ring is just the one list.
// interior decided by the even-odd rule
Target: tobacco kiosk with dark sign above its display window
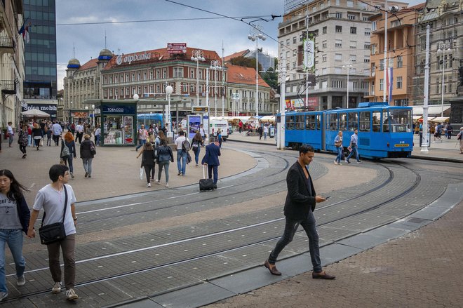
[{"label": "tobacco kiosk with dark sign above its display window", "polygon": [[101,128],[100,145],[133,146],[137,142],[136,100],[95,102],[95,126]]}]

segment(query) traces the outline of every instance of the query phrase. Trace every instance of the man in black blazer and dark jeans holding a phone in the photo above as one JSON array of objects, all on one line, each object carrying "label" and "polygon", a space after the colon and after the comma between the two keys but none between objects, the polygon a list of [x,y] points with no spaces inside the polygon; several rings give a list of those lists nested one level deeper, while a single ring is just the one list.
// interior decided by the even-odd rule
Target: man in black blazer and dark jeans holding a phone
[{"label": "man in black blazer and dark jeans holding a phone", "polygon": [[301,225],[309,238],[310,258],[314,267],[312,278],[335,279],[335,276],[321,269],[314,210],[316,203],[326,201],[326,198],[316,196],[314,184],[307,169],[307,165],[314,159],[314,152],[314,148],[310,145],[302,145],[299,148],[299,158],[288,170],[288,175],[286,175],[288,194],[286,195],[284,208],[286,217],[285,231],[281,239],[276,243],[274,250],[271,250],[269,258],[264,262],[264,267],[267,267],[273,275],[281,275],[281,272],[275,266],[276,258],[281,253],[281,250],[293,241],[297,227]]}]

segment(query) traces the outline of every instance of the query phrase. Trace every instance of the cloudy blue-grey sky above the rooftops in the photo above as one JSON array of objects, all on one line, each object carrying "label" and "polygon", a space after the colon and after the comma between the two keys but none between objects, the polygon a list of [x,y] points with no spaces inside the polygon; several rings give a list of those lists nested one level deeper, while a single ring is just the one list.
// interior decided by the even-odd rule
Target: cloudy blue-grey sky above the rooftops
[{"label": "cloudy blue-grey sky above the rooftops", "polygon": [[[247,37],[250,26],[239,21],[244,18],[261,25],[269,36],[266,41],[259,41],[259,48],[277,55],[277,28],[283,19],[271,20],[271,15],[283,15],[283,0],[173,1],[190,7],[166,0],[56,0],[58,90],[62,89],[67,62],[73,58],[73,46],[75,58],[83,65],[105,48],[105,32],[106,47],[116,54],[165,48],[167,43],[187,43],[189,47],[222,55],[223,42],[224,55],[229,55],[255,48],[255,42]],[[424,1],[404,2],[415,5]],[[110,23],[92,24],[95,22]]]}]

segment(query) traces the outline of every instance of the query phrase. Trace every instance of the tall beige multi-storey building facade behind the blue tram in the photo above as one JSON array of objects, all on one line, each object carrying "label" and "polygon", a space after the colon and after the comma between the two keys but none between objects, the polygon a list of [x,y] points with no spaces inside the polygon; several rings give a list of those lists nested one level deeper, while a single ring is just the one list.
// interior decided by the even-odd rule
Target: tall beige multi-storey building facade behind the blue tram
[{"label": "tall beige multi-storey building facade behind the blue tram", "polygon": [[[405,8],[408,4],[389,1],[389,6]],[[349,107],[366,100],[370,86],[369,18],[380,11],[378,8],[384,9],[384,1],[316,0],[287,13],[278,30],[279,57],[286,59],[286,98],[304,101],[307,88],[313,109],[347,107],[349,88]],[[308,87],[302,70],[307,30],[315,41]]]}]

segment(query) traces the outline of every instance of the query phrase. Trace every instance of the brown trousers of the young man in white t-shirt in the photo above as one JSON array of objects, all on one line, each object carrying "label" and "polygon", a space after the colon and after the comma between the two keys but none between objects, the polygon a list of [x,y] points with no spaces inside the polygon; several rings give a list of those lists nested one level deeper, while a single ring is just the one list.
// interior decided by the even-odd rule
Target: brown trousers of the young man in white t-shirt
[{"label": "brown trousers of the young man in white t-shirt", "polygon": [[76,281],[76,259],[74,249],[76,247],[76,234],[69,234],[62,241],[48,244],[48,266],[54,282],[61,282],[60,248],[62,260],[65,262],[65,286],[66,290],[74,288]]}]

